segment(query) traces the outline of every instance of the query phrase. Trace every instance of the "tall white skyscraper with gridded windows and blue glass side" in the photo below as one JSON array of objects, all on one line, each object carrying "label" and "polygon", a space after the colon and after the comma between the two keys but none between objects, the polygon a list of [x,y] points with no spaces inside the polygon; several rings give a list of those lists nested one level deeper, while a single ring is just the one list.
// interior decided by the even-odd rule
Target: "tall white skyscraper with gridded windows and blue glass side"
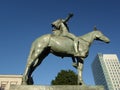
[{"label": "tall white skyscraper with gridded windows and blue glass side", "polygon": [[116,54],[98,54],[92,63],[96,85],[105,90],[120,90],[120,61]]}]

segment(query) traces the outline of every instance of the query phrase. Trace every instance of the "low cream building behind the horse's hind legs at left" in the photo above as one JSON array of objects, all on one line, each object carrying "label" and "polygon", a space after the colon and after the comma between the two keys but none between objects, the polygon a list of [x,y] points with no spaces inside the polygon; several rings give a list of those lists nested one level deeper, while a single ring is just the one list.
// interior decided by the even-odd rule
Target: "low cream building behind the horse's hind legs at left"
[{"label": "low cream building behind the horse's hind legs at left", "polygon": [[10,85],[21,85],[22,75],[0,75],[0,90],[9,90]]}]

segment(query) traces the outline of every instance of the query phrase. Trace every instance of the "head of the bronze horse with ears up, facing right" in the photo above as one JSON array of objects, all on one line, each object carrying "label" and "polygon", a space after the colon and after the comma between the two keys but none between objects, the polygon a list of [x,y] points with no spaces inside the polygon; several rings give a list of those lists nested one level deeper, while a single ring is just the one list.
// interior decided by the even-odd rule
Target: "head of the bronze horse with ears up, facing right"
[{"label": "head of the bronze horse with ears up, facing right", "polygon": [[106,37],[100,30],[97,30],[96,27],[94,28],[94,33],[95,33],[95,39],[103,41],[105,43],[109,43],[110,40],[108,37]]}]

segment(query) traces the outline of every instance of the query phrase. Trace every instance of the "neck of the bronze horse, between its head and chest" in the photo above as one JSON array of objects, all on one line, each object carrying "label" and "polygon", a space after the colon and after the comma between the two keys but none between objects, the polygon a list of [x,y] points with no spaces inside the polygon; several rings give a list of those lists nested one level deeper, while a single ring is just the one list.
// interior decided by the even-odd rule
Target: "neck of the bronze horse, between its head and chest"
[{"label": "neck of the bronze horse, between its head and chest", "polygon": [[96,37],[95,37],[95,33],[93,31],[93,32],[90,32],[90,33],[85,34],[83,36],[80,36],[80,38],[86,42],[89,42],[89,44],[91,44],[95,40]]}]

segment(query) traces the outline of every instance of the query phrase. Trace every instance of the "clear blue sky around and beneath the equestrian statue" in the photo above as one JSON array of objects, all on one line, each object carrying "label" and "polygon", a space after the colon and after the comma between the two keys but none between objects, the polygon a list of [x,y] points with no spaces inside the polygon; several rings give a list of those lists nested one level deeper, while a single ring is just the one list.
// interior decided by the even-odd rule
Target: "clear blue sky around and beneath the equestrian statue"
[{"label": "clear blue sky around and beneath the equestrian statue", "polygon": [[[52,33],[51,23],[74,13],[69,21],[70,32],[86,34],[97,26],[111,40],[110,44],[95,41],[85,59],[83,79],[94,85],[91,63],[97,53],[120,57],[119,0],[1,0],[0,1],[0,74],[22,74],[31,43],[39,36]],[[71,58],[52,54],[33,73],[35,84],[49,85],[57,73],[71,69]]]}]

